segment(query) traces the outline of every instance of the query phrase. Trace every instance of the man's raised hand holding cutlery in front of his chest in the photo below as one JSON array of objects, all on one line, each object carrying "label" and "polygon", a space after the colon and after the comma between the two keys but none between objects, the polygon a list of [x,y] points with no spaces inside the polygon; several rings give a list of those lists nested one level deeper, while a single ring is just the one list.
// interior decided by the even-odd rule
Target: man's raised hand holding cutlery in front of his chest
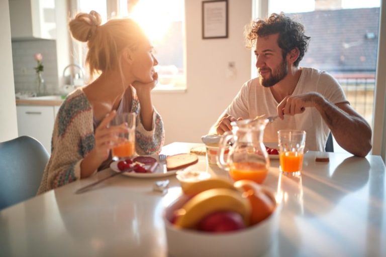
[{"label": "man's raised hand holding cutlery in front of his chest", "polygon": [[277,105],[277,114],[281,119],[284,115],[295,115],[305,111],[306,107],[315,106],[317,98],[322,97],[317,92],[300,95],[288,95]]}]

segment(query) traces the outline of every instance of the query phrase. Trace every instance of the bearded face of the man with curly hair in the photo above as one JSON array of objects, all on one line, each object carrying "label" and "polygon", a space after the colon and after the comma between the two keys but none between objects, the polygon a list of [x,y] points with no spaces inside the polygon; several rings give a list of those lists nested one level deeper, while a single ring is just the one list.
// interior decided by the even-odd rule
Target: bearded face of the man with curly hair
[{"label": "bearded face of the man with curly hair", "polygon": [[260,84],[264,87],[275,85],[288,73],[288,64],[282,57],[277,38],[278,34],[272,34],[256,40],[256,68]]}]

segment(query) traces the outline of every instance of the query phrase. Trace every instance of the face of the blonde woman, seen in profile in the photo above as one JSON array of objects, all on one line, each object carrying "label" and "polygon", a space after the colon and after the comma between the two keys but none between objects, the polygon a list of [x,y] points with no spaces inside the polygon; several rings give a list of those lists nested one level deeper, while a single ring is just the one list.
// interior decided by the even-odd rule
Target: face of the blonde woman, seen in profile
[{"label": "face of the blonde woman, seen in profile", "polygon": [[148,40],[132,52],[132,60],[131,72],[135,80],[142,83],[153,81],[154,66],[158,61],[153,55],[153,46]]}]

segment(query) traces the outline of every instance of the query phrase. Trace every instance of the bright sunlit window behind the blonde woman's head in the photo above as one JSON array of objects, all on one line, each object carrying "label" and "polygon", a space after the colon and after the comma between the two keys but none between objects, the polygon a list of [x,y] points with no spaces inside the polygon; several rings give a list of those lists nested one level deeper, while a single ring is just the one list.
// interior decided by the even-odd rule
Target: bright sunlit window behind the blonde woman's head
[{"label": "bright sunlit window behind the blonde woman's head", "polygon": [[[185,89],[184,0],[79,1],[80,12],[91,10],[101,14],[102,23],[115,17],[135,20],[151,40],[159,62],[155,67],[159,77],[156,90]],[[74,52],[84,66],[86,47],[82,45]]]}]

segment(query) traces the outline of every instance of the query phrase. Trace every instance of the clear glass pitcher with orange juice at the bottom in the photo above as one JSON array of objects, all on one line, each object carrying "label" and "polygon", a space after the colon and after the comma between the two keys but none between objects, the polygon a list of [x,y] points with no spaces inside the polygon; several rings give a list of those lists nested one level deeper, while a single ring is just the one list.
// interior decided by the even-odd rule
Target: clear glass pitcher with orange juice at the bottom
[{"label": "clear glass pitcher with orange juice at the bottom", "polygon": [[[269,157],[263,144],[266,124],[266,119],[233,121],[232,131],[221,138],[217,165],[228,171],[233,180],[264,182],[269,169]],[[224,153],[228,148],[225,160]]]}]

